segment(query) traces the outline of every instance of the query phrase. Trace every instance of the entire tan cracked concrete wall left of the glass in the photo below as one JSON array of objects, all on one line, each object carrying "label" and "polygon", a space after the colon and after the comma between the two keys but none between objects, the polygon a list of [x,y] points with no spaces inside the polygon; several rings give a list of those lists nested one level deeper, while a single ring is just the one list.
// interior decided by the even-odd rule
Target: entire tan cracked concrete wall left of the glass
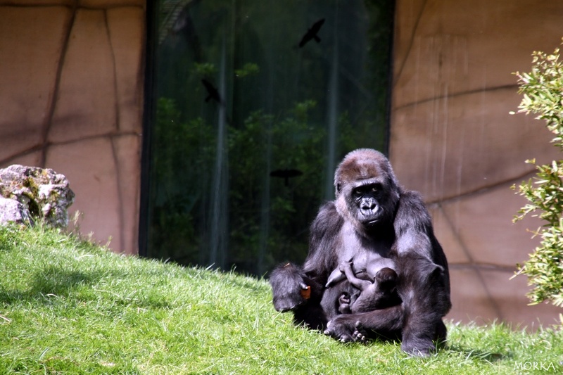
[{"label": "entire tan cracked concrete wall left of the glass", "polygon": [[137,253],[143,0],[0,0],[0,167],[65,174],[82,232]]}]

